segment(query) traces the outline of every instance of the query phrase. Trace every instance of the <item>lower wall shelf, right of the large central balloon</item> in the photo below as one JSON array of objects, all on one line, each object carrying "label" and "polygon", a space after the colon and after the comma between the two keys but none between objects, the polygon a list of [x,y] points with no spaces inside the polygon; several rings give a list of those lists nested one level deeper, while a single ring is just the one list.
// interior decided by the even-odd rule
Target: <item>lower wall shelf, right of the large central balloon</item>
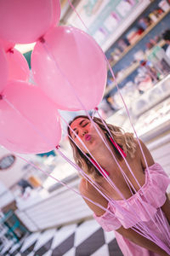
[{"label": "lower wall shelf, right of the large central balloon", "polygon": [[[159,45],[160,47],[162,47],[164,44],[166,44],[165,40],[161,39],[161,41],[159,43],[157,43],[157,45]],[[155,46],[154,46],[155,47]],[[150,54],[151,50],[153,48],[149,49],[147,51],[147,54],[144,54],[144,60],[147,59],[147,55]],[[137,68],[139,67],[139,61],[134,62],[130,67],[127,67],[125,73],[123,74],[123,76],[120,79],[116,79],[116,82],[114,81],[112,84],[110,84],[106,89],[105,89],[105,95],[106,96],[108,93],[110,93],[111,90],[113,90],[116,87],[116,83],[120,84],[122,83],[122,81],[124,79],[126,79],[131,73],[133,73]]]}]

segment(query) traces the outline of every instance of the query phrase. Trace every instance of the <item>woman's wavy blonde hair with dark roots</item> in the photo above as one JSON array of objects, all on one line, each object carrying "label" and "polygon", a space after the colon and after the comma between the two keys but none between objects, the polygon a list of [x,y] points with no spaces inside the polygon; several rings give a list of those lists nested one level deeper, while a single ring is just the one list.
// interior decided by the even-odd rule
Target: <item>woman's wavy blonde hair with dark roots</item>
[{"label": "woman's wavy blonde hair with dark roots", "polygon": [[[74,120],[79,118],[88,119],[88,116],[79,115],[75,119],[73,119],[71,123],[74,122]],[[71,125],[71,123],[69,125]],[[94,123],[99,125],[99,127],[105,132],[105,137],[106,137],[106,134],[108,134],[108,131],[105,129],[105,125],[103,124],[102,120],[97,117],[94,117]],[[111,131],[111,135],[114,141],[123,149],[123,151],[127,155],[130,155],[130,157],[133,158],[134,153],[136,151],[136,143],[133,137],[133,133],[124,132],[122,128],[116,125],[110,125],[110,124],[106,124],[106,125],[108,129]],[[68,135],[71,137],[71,131],[69,127],[68,127]],[[71,140],[70,137],[69,137],[69,141],[71,143],[71,147],[73,150],[73,157],[75,162],[77,163],[77,166],[82,168],[84,172],[86,172],[88,175],[90,175],[94,179],[102,177],[102,175],[97,170],[97,168],[95,168],[95,166],[88,160],[86,155],[84,155],[82,151],[79,148],[77,148],[77,145]],[[118,160],[122,160],[122,156],[119,152],[116,151],[116,148],[113,147],[112,149],[114,150],[114,153],[116,154],[116,157],[118,158]]]}]

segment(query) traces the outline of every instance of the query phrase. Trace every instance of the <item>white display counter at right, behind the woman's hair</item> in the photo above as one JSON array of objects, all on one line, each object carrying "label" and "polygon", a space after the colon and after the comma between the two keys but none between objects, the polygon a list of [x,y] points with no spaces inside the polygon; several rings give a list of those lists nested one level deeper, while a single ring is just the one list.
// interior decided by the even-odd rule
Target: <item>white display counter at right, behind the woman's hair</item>
[{"label": "white display counter at right, behind the woman's hair", "polygon": [[[150,90],[147,90],[143,95],[139,96],[131,105],[127,105],[133,125],[135,130],[138,131],[139,137],[143,138],[143,136],[147,136],[151,138],[151,135],[154,137],[154,130],[157,130],[157,127],[160,127],[160,125],[162,126],[161,132],[170,131],[169,81],[170,74],[154,87],[150,88]],[[157,93],[155,94],[156,90]],[[150,96],[152,96],[152,100]],[[153,96],[155,97],[153,98]],[[136,103],[140,100],[144,100],[145,105],[137,108]],[[116,123],[116,125],[121,126],[124,131],[133,132],[125,108],[120,108],[116,113],[113,113],[106,119],[106,121],[109,124]]]}]

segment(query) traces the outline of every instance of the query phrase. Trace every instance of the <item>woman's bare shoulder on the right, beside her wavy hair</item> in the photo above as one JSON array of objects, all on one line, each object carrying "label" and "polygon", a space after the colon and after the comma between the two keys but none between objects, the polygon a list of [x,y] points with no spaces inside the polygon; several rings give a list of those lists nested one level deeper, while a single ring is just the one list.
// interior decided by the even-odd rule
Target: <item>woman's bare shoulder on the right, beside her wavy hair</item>
[{"label": "woman's bare shoulder on the right, beside her wavy hair", "polygon": [[137,154],[137,157],[139,158],[139,160],[141,161],[141,164],[142,164],[143,168],[144,169],[146,168],[144,157],[146,159],[146,162],[147,162],[148,166],[153,166],[155,164],[155,161],[154,161],[154,159],[153,159],[153,157],[150,153],[149,148],[147,148],[147,146],[140,139],[139,139],[139,142],[140,142],[140,145],[141,145],[141,148],[143,150],[144,155],[142,154],[142,151],[141,151],[141,148],[139,146],[138,140],[135,139],[136,154]]}]

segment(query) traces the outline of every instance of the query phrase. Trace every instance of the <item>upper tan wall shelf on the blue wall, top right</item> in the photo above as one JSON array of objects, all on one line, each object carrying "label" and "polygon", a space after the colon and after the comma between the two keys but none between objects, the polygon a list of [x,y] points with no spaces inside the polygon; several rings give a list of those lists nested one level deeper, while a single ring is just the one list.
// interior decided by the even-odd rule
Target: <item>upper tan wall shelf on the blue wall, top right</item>
[{"label": "upper tan wall shelf on the blue wall, top right", "polygon": [[122,57],[123,57],[124,55],[127,55],[127,53],[128,53],[131,49],[133,49],[133,47],[134,47],[136,44],[138,44],[139,41],[142,40],[142,39],[151,31],[151,30],[169,13],[169,11],[170,11],[170,10],[168,10],[168,11],[165,12],[165,13],[163,13],[163,14],[161,15],[161,17],[159,17],[159,18],[157,19],[156,22],[154,22],[154,23],[151,24],[149,27],[147,27],[146,30],[144,30],[144,32],[141,34],[141,36],[139,37],[139,39],[138,39],[134,44],[129,45],[129,46],[122,52],[122,55],[119,57],[118,60],[116,60],[116,61],[111,61],[111,62],[110,62],[111,67],[113,67],[114,65],[116,65],[116,63],[117,63],[118,61],[121,61],[121,60],[122,60]]}]

